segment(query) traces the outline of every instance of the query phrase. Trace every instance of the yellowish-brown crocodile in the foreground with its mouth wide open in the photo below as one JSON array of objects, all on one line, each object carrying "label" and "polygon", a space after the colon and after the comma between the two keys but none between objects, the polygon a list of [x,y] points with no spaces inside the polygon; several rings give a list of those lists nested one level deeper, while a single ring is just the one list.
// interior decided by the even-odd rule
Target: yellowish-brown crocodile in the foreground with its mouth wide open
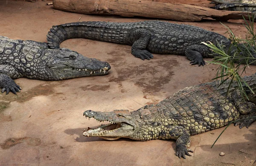
[{"label": "yellowish-brown crocodile in the foreground with its mouth wide open", "polygon": [[[245,76],[243,80],[255,92],[256,75]],[[96,129],[88,127],[83,135],[106,140],[120,137],[141,141],[175,139],[176,155],[186,158],[193,152],[189,149],[190,136],[227,126],[234,120],[241,120],[235,122],[240,129],[248,128],[256,120],[253,118],[256,116],[256,94],[244,84],[249,98],[244,100],[237,88],[234,83],[230,86],[230,80],[221,85],[219,81],[213,81],[186,87],[156,105],[146,105],[133,112],[87,110],[84,116],[99,121],[100,125]],[[247,117],[252,118],[244,120]]]}]

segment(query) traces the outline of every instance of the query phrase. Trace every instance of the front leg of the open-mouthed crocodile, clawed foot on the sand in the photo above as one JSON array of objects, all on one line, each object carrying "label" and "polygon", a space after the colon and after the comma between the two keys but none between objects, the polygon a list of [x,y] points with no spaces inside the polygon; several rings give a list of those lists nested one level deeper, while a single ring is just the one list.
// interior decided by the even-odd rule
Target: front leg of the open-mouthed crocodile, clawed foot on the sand
[{"label": "front leg of the open-mouthed crocodile, clawed foot on the sand", "polygon": [[189,149],[190,134],[189,131],[182,126],[170,126],[169,135],[172,139],[176,140],[176,155],[180,158],[186,159],[185,155],[191,156],[189,152],[193,152]]}]

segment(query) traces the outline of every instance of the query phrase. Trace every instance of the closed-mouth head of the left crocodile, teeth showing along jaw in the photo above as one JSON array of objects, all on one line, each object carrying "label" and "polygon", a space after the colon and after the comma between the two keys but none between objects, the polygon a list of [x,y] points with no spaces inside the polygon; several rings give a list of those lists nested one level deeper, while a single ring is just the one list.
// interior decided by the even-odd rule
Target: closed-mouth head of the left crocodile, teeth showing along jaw
[{"label": "closed-mouth head of the left crocodile, teeth showing along jaw", "polygon": [[47,58],[47,66],[56,80],[108,74],[111,66],[95,58],[84,57],[70,49],[58,49]]}]

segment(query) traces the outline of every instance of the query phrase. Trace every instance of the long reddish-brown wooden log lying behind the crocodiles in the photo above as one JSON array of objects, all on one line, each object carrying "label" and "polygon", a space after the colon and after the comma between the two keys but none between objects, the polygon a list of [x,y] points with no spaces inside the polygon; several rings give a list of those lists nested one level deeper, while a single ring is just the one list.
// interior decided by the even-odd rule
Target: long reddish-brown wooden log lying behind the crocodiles
[{"label": "long reddish-brown wooden log lying behind the crocodiles", "polygon": [[211,17],[217,20],[238,20],[247,12],[219,11],[200,6],[171,4],[148,0],[53,0],[55,9],[82,14],[107,14],[124,17],[150,17],[177,21],[200,21]]}]

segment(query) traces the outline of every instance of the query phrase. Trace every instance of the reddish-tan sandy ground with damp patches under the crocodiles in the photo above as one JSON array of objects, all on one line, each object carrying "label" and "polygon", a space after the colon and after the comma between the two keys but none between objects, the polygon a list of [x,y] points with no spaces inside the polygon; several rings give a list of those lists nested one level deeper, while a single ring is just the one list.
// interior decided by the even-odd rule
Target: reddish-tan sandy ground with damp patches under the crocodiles
[{"label": "reddish-tan sandy ground with damp patches under the crocodiles", "polygon": [[[8,0],[6,5],[1,0],[0,35],[45,42],[52,25],[76,22],[81,16],[80,21],[147,20],[68,13],[45,4]],[[242,22],[224,24],[245,37]],[[213,20],[187,24],[220,34],[226,32]],[[158,103],[186,86],[210,81],[217,66],[190,66],[186,57],[177,55],[154,54],[154,59],[143,61],[131,55],[131,46],[87,39],[66,40],[61,46],[108,61],[112,67],[110,74],[63,81],[15,80],[23,88],[20,93],[0,94],[0,165],[251,166],[255,163],[256,123],[249,129],[230,126],[212,149],[210,146],[223,128],[192,136],[194,153],[186,160],[175,156],[175,140],[107,141],[84,137],[81,132],[85,128],[98,125],[82,116],[85,110],[134,111]],[[255,71],[252,66],[246,74]],[[221,157],[220,152],[226,155]]]}]

